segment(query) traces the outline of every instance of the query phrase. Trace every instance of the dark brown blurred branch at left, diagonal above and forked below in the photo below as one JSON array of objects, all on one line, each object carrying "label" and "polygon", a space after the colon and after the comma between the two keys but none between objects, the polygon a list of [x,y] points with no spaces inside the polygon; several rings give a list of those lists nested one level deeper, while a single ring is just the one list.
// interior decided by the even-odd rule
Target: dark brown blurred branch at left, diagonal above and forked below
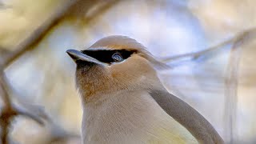
[{"label": "dark brown blurred branch at left, diagonal above and forked below", "polygon": [[[8,143],[8,134],[9,134],[9,128],[10,123],[12,122],[12,119],[15,116],[22,115],[27,118],[33,119],[35,122],[38,122],[39,124],[43,124],[42,115],[46,116],[42,110],[38,110],[40,113],[34,113],[30,112],[30,110],[36,110],[37,108],[34,106],[34,109],[26,110],[22,109],[21,107],[14,106],[14,104],[10,100],[10,95],[8,94],[8,86],[6,82],[6,77],[4,75],[3,70],[6,68],[6,66],[9,66],[10,63],[14,62],[15,59],[19,58],[22,54],[24,54],[27,50],[33,49],[38,42],[47,34],[47,32],[54,26],[56,26],[61,20],[66,12],[70,9],[71,6],[74,5],[75,2],[78,0],[72,0],[66,2],[66,5],[63,6],[60,10],[57,10],[57,12],[48,18],[46,22],[42,23],[41,26],[38,27],[37,30],[34,30],[32,34],[28,38],[26,38],[22,43],[20,43],[14,50],[14,52],[9,53],[6,58],[2,60],[2,63],[0,63],[0,89],[1,89],[1,96],[2,101],[4,103],[4,107],[2,108],[2,112],[0,114],[0,125],[2,127],[1,132],[1,140],[2,144]],[[26,107],[26,106],[22,106]],[[43,113],[43,114],[42,114]]]}]

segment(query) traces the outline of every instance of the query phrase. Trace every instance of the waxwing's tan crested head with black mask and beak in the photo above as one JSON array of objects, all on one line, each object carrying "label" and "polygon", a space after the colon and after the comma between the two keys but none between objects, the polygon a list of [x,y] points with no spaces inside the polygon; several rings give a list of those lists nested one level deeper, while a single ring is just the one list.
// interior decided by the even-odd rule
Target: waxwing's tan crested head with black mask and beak
[{"label": "waxwing's tan crested head with black mask and beak", "polygon": [[76,84],[82,97],[159,85],[155,67],[164,66],[132,38],[109,36],[86,50],[67,50],[77,64]]}]

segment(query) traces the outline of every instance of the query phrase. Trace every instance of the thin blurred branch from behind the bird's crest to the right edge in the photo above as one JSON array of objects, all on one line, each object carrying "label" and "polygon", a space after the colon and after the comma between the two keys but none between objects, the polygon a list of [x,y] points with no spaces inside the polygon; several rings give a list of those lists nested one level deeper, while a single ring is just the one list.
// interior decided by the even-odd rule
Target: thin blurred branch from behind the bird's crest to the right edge
[{"label": "thin blurred branch from behind the bird's crest to the right edge", "polygon": [[[162,58],[162,62],[179,62],[179,61],[194,61],[199,58],[205,57],[208,58],[210,55],[217,54],[221,50],[225,49],[227,46],[233,45],[236,42],[240,42],[241,38],[247,38],[250,36],[255,37],[256,34],[256,28],[252,28],[249,30],[244,30],[238,34],[236,34],[233,38],[230,38],[217,46],[212,46],[210,48],[207,48],[206,50],[188,53],[188,54],[181,54],[176,55],[170,58]],[[230,48],[230,47],[229,47]],[[208,57],[207,57],[208,56]]]}]

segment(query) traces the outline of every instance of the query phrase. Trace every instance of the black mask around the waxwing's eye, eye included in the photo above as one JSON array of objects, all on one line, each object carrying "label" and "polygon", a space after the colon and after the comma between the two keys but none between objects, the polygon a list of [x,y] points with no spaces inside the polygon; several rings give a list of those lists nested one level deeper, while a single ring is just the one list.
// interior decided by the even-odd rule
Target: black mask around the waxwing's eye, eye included
[{"label": "black mask around the waxwing's eye, eye included", "polygon": [[136,53],[135,50],[82,50],[83,54],[98,59],[100,62],[113,63],[122,62]]}]

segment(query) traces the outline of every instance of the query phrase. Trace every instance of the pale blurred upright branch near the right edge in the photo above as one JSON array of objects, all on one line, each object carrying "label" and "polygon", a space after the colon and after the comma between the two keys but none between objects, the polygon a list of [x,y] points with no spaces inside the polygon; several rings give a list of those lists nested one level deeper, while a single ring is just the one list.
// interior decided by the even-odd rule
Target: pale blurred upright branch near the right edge
[{"label": "pale blurred upright branch near the right edge", "polygon": [[246,42],[249,38],[248,34],[243,34],[236,39],[234,45],[230,50],[230,58],[228,62],[228,67],[226,70],[226,89],[225,89],[225,134],[227,142],[234,143],[237,142],[236,138],[236,116],[238,108],[238,74],[239,74],[239,62],[242,54],[241,45]]}]

